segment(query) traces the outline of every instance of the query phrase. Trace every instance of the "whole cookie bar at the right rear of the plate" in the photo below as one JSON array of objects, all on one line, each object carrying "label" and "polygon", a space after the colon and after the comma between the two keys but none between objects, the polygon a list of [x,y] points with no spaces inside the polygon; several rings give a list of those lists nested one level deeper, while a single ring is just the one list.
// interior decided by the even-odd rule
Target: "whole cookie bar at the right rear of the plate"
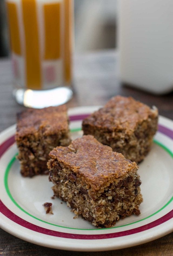
[{"label": "whole cookie bar at the right rear of the plate", "polygon": [[122,153],[125,158],[141,162],[149,152],[157,131],[158,110],[131,97],[115,96],[86,117],[82,123],[85,135]]}]

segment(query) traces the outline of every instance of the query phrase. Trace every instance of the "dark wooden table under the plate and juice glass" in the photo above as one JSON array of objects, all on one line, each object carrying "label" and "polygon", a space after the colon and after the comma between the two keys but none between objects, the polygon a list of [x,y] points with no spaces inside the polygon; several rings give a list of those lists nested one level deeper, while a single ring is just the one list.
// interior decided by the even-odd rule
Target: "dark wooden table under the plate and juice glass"
[{"label": "dark wooden table under the plate and juice glass", "polygon": [[[133,96],[149,106],[156,105],[159,113],[173,119],[173,93],[155,96],[120,85],[117,76],[117,53],[113,50],[90,52],[74,58],[73,99],[68,107],[103,105],[112,96]],[[0,60],[0,131],[15,123],[17,112],[24,107],[12,97],[12,74],[9,59]],[[16,238],[0,229],[0,255],[173,255],[173,233],[132,248],[108,252],[69,252],[44,248]]]}]

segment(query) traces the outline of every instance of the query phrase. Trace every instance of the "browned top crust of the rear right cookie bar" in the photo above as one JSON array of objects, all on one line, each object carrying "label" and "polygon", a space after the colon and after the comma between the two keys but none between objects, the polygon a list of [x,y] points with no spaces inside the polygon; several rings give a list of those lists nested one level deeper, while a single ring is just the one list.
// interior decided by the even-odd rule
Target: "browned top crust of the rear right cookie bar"
[{"label": "browned top crust of the rear right cookie bar", "polygon": [[115,96],[107,104],[83,120],[83,126],[97,126],[98,129],[124,131],[131,134],[137,125],[148,118],[155,118],[157,109],[152,110],[147,105],[132,97]]}]

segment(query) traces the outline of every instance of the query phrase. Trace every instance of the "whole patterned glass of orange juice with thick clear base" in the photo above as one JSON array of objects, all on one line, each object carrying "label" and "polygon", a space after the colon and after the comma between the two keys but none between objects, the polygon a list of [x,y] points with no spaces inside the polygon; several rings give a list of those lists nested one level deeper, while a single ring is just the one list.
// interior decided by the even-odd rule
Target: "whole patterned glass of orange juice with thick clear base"
[{"label": "whole patterned glass of orange juice with thick clear base", "polygon": [[14,96],[26,107],[72,97],[73,0],[6,0]]}]

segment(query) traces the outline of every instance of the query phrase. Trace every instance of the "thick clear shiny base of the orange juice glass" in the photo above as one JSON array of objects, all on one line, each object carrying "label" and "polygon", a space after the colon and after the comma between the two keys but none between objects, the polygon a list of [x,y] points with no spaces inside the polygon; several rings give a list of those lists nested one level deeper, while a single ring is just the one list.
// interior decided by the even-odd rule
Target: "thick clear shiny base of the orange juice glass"
[{"label": "thick clear shiny base of the orange juice glass", "polygon": [[68,102],[73,95],[68,87],[57,87],[50,90],[15,89],[13,95],[16,101],[29,108],[45,108],[58,106]]}]

